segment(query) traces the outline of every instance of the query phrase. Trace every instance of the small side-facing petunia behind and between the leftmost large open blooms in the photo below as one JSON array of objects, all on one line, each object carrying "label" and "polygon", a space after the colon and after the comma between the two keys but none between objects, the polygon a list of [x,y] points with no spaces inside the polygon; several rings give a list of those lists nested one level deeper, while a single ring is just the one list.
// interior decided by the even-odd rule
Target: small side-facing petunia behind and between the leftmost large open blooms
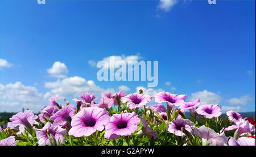
[{"label": "small side-facing petunia behind and between the leftmost large open blooms", "polygon": [[49,117],[51,117],[53,114],[55,114],[59,108],[56,106],[46,106],[42,111],[40,111],[40,114],[38,115],[40,121],[44,123],[47,120],[49,120]]}]

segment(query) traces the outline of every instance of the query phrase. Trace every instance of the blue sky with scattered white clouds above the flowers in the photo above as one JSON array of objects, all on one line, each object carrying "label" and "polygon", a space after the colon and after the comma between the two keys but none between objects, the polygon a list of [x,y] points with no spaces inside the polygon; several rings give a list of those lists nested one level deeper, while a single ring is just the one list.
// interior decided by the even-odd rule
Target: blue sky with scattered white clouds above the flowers
[{"label": "blue sky with scattered white clouds above the flowers", "polygon": [[[158,60],[159,84],[148,93],[255,111],[255,1],[163,2],[1,1],[0,111],[38,111],[56,93],[71,101],[84,90],[147,88],[144,81],[98,81],[88,61],[109,56]],[[49,73],[56,61],[65,77]]]}]

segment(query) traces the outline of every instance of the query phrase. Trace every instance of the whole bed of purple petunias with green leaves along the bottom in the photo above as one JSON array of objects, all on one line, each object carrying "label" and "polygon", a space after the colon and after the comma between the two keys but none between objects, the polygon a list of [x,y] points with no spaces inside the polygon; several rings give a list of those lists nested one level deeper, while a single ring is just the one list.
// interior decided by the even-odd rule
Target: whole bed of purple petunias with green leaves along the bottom
[{"label": "whole bed of purple petunias with green leaves along the bottom", "polygon": [[60,105],[58,98],[38,115],[13,115],[0,128],[0,146],[255,145],[254,119],[233,110],[223,116],[220,104],[186,102],[185,94],[84,93],[75,105]]}]

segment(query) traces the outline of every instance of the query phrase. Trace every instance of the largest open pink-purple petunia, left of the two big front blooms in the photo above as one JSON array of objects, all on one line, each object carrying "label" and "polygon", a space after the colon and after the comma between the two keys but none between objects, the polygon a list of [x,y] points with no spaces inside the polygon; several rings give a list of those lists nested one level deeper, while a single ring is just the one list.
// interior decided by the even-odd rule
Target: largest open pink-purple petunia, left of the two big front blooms
[{"label": "largest open pink-purple petunia, left of the two big front blooms", "polygon": [[109,112],[106,109],[96,107],[82,108],[72,117],[69,135],[74,137],[88,137],[96,130],[102,131],[109,123]]}]

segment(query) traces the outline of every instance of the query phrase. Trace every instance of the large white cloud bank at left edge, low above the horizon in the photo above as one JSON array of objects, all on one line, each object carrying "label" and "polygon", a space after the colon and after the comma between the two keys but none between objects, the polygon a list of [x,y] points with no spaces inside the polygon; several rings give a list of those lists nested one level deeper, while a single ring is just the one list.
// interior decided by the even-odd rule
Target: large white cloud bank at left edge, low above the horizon
[{"label": "large white cloud bank at left edge, low above the horizon", "polygon": [[0,96],[0,111],[21,111],[22,108],[39,111],[46,105],[38,89],[21,82],[0,84]]}]

